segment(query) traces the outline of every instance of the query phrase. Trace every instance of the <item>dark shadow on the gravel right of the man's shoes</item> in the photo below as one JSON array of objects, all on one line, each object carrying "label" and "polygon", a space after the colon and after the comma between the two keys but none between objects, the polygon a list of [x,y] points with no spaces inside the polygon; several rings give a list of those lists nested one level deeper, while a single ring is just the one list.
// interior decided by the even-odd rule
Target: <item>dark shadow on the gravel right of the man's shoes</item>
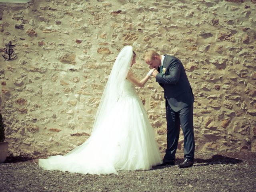
[{"label": "dark shadow on the gravel right of the man's shoes", "polygon": [[208,166],[208,165],[213,165],[213,164],[237,164],[240,162],[243,162],[243,161],[240,159],[231,158],[231,157],[222,156],[222,155],[217,154],[217,155],[212,156],[212,158],[210,158],[210,159],[196,158],[195,163],[199,163],[199,164],[195,164],[194,166]]}]

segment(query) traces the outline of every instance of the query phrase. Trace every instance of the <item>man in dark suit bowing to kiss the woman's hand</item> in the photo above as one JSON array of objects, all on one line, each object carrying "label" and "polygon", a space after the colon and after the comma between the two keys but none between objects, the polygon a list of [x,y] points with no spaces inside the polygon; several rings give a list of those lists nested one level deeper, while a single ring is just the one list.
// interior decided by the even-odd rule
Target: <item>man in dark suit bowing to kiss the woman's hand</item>
[{"label": "man in dark suit bowing to kiss the woman's hand", "polygon": [[194,130],[192,88],[188,82],[182,62],[169,55],[159,55],[155,51],[145,54],[145,62],[155,68],[153,76],[164,88],[166,100],[167,148],[162,165],[174,165],[178,147],[180,126],[184,134],[184,162],[179,168],[187,168],[194,164]]}]

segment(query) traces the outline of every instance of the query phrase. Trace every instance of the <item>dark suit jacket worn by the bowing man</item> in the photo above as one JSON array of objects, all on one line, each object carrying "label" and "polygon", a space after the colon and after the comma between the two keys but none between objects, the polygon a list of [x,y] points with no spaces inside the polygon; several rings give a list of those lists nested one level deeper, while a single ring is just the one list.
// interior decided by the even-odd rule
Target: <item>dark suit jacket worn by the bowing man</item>
[{"label": "dark suit jacket worn by the bowing man", "polygon": [[178,58],[164,55],[163,68],[166,68],[166,73],[157,74],[156,82],[164,88],[164,98],[168,100],[172,110],[180,111],[194,102],[184,66]]}]

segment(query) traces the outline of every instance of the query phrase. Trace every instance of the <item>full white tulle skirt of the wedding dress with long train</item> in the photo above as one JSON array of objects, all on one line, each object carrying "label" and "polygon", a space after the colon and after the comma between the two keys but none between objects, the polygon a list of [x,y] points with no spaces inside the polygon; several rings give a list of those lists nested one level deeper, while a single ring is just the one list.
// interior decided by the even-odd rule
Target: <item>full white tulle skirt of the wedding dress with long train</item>
[{"label": "full white tulle skirt of the wedding dress with long train", "polygon": [[118,174],[149,170],[162,163],[153,128],[137,95],[118,100],[84,144],[64,156],[39,159],[47,170],[82,174]]}]

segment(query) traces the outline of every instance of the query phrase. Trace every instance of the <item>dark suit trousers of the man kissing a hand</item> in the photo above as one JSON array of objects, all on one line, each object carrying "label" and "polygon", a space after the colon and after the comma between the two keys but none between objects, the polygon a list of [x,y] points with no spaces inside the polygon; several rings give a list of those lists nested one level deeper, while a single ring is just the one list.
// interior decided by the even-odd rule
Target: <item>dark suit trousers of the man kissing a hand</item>
[{"label": "dark suit trousers of the man kissing a hand", "polygon": [[180,126],[184,135],[184,158],[194,161],[195,140],[193,128],[193,103],[175,112],[166,100],[167,148],[164,159],[175,160],[180,136]]}]

